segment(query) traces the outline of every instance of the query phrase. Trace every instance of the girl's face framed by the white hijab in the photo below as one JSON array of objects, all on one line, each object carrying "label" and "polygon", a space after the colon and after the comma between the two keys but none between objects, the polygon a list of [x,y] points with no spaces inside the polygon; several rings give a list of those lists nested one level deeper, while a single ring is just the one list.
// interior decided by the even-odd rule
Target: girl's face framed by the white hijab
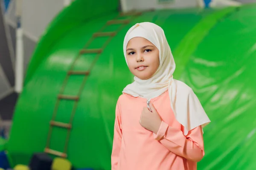
[{"label": "girl's face framed by the white hijab", "polygon": [[142,37],[134,37],[128,42],[126,58],[129,70],[139,79],[151,78],[159,67],[159,50]]}]

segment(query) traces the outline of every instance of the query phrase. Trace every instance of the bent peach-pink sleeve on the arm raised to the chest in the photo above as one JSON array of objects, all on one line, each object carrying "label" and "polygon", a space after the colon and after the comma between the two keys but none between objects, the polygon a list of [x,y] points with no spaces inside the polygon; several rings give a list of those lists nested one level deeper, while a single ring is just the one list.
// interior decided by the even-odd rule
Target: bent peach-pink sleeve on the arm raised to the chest
[{"label": "bent peach-pink sleeve on the arm raised to the chest", "polygon": [[154,138],[159,140],[167,149],[189,161],[201,161],[204,156],[204,139],[202,127],[198,126],[184,136],[182,130],[161,123]]}]

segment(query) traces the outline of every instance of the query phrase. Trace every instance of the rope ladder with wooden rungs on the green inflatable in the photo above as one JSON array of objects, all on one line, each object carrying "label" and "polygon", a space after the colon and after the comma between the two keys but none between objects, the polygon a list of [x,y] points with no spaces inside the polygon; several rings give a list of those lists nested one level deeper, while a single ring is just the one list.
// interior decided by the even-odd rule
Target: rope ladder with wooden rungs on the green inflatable
[{"label": "rope ladder with wooden rungs on the green inflatable", "polygon": [[[68,148],[68,143],[69,143],[69,139],[70,139],[70,133],[71,133],[71,128],[72,128],[72,122],[76,113],[76,108],[78,106],[78,102],[79,102],[79,98],[81,96],[81,93],[84,89],[84,86],[87,82],[88,79],[88,75],[90,74],[90,72],[92,71],[94,65],[96,64],[96,62],[98,61],[99,57],[101,56],[102,52],[104,51],[104,49],[107,47],[107,45],[111,42],[111,40],[113,39],[113,37],[120,31],[122,30],[131,20],[133,20],[135,17],[139,16],[141,13],[129,13],[129,14],[119,14],[117,15],[113,20],[109,20],[108,22],[105,23],[104,26],[102,26],[102,28],[97,31],[96,33],[94,33],[90,39],[87,41],[87,43],[84,45],[84,48],[79,51],[79,54],[75,57],[75,59],[73,60],[73,62],[71,63],[71,66],[69,68],[69,71],[66,74],[66,77],[64,78],[63,84],[61,86],[60,92],[58,94],[57,97],[57,101],[55,103],[55,108],[52,114],[52,119],[50,122],[50,127],[49,127],[49,131],[48,131],[48,136],[47,136],[47,144],[46,144],[46,148],[45,148],[45,152],[46,153],[50,153],[56,156],[61,156],[64,158],[67,158],[67,148]],[[120,16],[129,16],[129,15],[134,15],[133,17],[131,17],[131,19],[126,19],[126,20],[118,20],[118,17]],[[121,24],[121,26],[119,26],[119,28],[117,28],[116,31],[113,32],[103,32],[103,30],[105,30],[105,28],[107,28],[108,26],[112,25],[112,24]],[[101,48],[99,49],[87,49],[87,47],[93,42],[93,40],[95,40],[97,37],[103,37],[103,36],[108,36],[108,39],[105,41],[105,43],[102,45]],[[76,65],[77,60],[81,57],[82,54],[85,53],[96,53],[95,58],[93,59],[93,62],[91,63],[89,69],[87,71],[74,71],[73,68]],[[76,96],[70,96],[70,95],[63,95],[63,92],[66,88],[68,79],[70,76],[72,75],[83,75],[84,78],[82,80],[82,83],[80,85],[79,91],[77,93]],[[55,121],[56,115],[57,115],[57,111],[58,111],[58,107],[60,104],[60,101],[63,99],[67,99],[67,100],[73,100],[74,101],[74,105],[73,105],[73,109],[71,111],[71,115],[70,115],[70,120],[69,123],[63,123],[63,122],[57,122]],[[53,126],[56,127],[64,127],[67,128],[67,136],[66,136],[66,140],[65,140],[65,144],[64,144],[64,151],[63,153],[56,151],[56,150],[52,150],[50,149],[50,139],[52,136],[52,128]]]}]

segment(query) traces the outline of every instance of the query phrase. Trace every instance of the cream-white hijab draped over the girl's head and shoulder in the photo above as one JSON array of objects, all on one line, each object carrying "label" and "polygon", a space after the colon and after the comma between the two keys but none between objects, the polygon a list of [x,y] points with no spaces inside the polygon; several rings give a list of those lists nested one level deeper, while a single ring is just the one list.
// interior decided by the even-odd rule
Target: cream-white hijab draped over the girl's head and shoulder
[{"label": "cream-white hijab draped over the girl's head and shoulder", "polygon": [[150,100],[169,90],[170,104],[175,118],[184,126],[184,135],[195,127],[207,125],[210,120],[192,89],[185,83],[173,79],[175,61],[163,29],[148,22],[132,26],[126,33],[123,44],[126,63],[127,44],[134,37],[143,37],[157,47],[160,64],[151,78],[142,80],[134,77],[134,82],[127,85],[123,93]]}]

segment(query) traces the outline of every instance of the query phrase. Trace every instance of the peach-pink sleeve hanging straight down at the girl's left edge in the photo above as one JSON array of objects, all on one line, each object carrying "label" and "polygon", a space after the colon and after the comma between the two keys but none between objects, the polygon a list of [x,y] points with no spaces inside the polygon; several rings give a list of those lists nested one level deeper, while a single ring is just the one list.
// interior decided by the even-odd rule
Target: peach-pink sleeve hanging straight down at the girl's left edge
[{"label": "peach-pink sleeve hanging straight down at the girl's left edge", "polygon": [[117,164],[119,160],[119,153],[121,148],[121,140],[122,140],[122,125],[120,121],[120,110],[119,104],[117,102],[116,105],[116,118],[114,125],[114,138],[113,138],[113,148],[111,154],[111,170],[117,170]]}]

